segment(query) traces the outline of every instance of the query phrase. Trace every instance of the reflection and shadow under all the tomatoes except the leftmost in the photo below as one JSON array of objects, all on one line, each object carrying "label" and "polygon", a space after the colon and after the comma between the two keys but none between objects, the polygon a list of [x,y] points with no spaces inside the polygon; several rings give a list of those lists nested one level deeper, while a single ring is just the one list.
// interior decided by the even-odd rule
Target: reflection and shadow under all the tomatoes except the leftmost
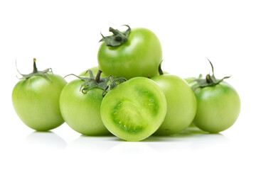
[{"label": "reflection and shadow under all the tomatoes except the leftmost", "polygon": [[88,137],[81,135],[65,148],[67,151],[105,154],[151,154],[214,149],[229,143],[222,134],[209,134],[198,128],[170,136],[151,136],[141,142],[126,142],[112,135]]}]

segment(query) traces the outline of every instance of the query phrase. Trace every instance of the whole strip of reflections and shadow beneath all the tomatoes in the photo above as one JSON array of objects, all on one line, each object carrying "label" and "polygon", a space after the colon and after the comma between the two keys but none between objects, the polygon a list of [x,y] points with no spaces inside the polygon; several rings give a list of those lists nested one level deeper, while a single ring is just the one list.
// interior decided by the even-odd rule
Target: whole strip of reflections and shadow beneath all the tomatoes
[{"label": "whole strip of reflections and shadow beneath all the tomatoes", "polygon": [[34,151],[65,151],[105,154],[154,154],[182,152],[185,150],[214,149],[229,143],[222,134],[209,134],[188,128],[184,132],[170,136],[151,136],[141,142],[126,142],[114,135],[90,137],[80,135],[68,145],[54,132],[32,132],[23,140],[23,149]]}]

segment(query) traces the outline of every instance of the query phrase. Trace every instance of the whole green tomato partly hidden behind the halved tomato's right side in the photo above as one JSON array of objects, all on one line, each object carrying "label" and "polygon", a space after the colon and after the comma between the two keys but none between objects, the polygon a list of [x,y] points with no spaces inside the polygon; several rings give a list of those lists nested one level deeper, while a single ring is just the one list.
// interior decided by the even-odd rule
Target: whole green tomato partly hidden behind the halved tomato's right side
[{"label": "whole green tomato partly hidden behind the halved tomato's right side", "polygon": [[171,75],[152,78],[164,91],[167,112],[164,122],[154,135],[170,135],[185,130],[196,115],[196,97],[183,79]]}]

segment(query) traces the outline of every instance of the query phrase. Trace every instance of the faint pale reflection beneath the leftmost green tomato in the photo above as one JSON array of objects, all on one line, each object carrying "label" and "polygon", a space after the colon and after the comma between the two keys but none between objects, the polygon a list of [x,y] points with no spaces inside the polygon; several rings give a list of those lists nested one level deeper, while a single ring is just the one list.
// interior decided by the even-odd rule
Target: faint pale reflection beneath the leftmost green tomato
[{"label": "faint pale reflection beneath the leftmost green tomato", "polygon": [[41,150],[64,149],[67,143],[54,132],[32,132],[23,140],[23,147]]}]

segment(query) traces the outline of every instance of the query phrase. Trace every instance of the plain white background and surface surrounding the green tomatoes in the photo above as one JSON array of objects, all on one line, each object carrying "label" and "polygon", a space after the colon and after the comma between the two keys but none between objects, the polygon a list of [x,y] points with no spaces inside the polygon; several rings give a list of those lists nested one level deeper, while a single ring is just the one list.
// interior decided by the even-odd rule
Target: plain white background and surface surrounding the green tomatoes
[{"label": "plain white background and surface surrounding the green tomatoes", "polygon": [[[0,169],[256,169],[255,1],[0,1]],[[128,24],[154,31],[162,68],[179,77],[232,75],[242,108],[220,134],[187,130],[123,142],[80,137],[63,124],[34,132],[16,115],[11,91],[22,73],[79,74],[97,65],[100,32]],[[123,28],[124,29],[124,28]],[[70,81],[69,79],[67,79]]]}]

